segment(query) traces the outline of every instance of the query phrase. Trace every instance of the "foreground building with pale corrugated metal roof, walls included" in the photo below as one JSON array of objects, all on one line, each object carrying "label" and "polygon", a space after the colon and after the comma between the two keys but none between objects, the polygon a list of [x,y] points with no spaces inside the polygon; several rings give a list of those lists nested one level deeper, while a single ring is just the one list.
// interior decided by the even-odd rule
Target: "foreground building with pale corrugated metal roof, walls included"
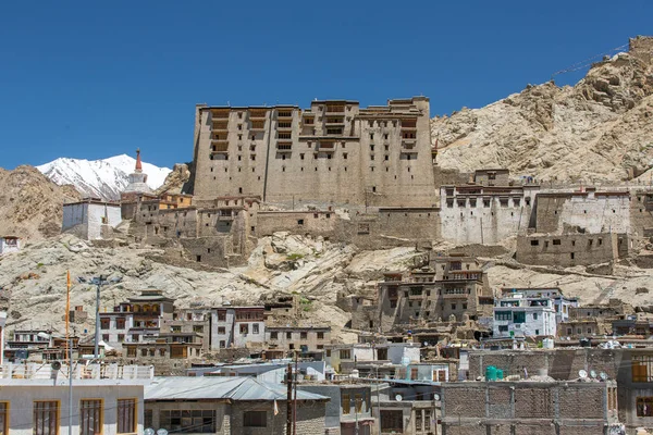
[{"label": "foreground building with pale corrugated metal roof, walls included", "polygon": [[[297,435],[324,433],[329,397],[297,390]],[[286,387],[248,376],[156,378],[145,391],[146,426],[170,433],[285,434]]]}]

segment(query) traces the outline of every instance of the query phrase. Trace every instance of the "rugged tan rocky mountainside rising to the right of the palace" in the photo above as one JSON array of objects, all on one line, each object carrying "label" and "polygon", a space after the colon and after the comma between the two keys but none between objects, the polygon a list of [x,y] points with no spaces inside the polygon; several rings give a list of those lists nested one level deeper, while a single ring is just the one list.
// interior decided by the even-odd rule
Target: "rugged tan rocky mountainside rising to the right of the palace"
[{"label": "rugged tan rocky mountainside rising to the right of the palace", "polygon": [[[527,86],[432,120],[443,167],[508,167],[540,181],[625,181],[653,166],[653,39],[604,60],[574,87]],[[648,178],[646,178],[648,181]]]}]

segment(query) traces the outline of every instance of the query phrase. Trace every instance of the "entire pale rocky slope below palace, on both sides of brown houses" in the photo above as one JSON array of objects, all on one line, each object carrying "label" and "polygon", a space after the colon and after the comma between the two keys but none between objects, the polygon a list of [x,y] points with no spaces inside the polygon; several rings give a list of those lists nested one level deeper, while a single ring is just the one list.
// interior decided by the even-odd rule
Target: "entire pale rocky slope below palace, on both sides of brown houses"
[{"label": "entire pale rocky slope below palace, on both sides of brown houses", "polygon": [[[451,246],[439,245],[438,250]],[[95,287],[81,282],[103,274],[110,284],[102,287],[102,310],[138,294],[157,288],[180,308],[250,304],[271,296],[299,294],[301,315],[312,324],[329,324],[334,337],[355,341],[345,325],[350,315],[336,307],[338,295],[373,296],[386,270],[407,270],[416,256],[414,248],[360,251],[353,245],[332,244],[286,233],[259,240],[249,262],[229,271],[198,271],[152,261],[161,252],[136,246],[99,248],[72,235],[42,240],[19,253],[0,257],[0,309],[7,309],[8,328],[52,327],[62,331],[65,309],[65,273],[73,277],[71,304],[89,313],[78,333],[93,332]],[[559,286],[582,303],[607,302],[618,298],[633,306],[650,306],[653,269],[640,269],[628,261],[603,274],[597,269],[525,266],[510,254],[485,259],[493,289],[506,286]]]}]

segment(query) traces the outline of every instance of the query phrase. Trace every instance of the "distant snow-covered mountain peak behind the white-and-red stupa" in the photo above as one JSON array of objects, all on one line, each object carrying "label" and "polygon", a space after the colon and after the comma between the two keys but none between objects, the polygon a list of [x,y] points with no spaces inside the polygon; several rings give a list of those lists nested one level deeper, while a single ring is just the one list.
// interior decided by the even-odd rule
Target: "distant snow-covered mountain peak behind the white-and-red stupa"
[{"label": "distant snow-covered mountain peak behind the white-and-red stupa", "polygon": [[[135,165],[136,159],[121,154],[101,160],[59,158],[36,169],[60,186],[72,184],[84,196],[112,200],[120,199]],[[143,162],[143,172],[148,186],[156,189],[171,170]]]}]

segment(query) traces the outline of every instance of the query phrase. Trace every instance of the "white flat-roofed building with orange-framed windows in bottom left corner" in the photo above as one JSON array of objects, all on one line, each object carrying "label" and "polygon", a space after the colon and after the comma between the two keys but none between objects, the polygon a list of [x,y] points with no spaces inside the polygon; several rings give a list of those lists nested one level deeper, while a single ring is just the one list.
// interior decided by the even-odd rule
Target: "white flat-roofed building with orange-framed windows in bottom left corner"
[{"label": "white flat-roofed building with orange-framed windows in bottom left corner", "polygon": [[[15,435],[141,434],[144,387],[150,366],[77,365],[73,409],[69,366],[4,364],[0,368],[0,432]],[[72,414],[72,420],[69,415]]]}]

